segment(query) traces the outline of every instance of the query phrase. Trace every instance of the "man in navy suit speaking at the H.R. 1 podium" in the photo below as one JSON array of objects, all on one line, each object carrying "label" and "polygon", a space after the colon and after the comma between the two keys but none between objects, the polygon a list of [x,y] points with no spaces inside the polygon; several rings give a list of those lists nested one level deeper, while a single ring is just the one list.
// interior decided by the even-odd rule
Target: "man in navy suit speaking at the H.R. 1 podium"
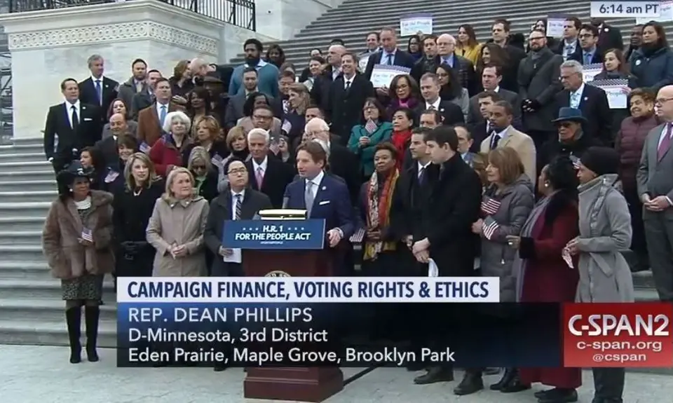
[{"label": "man in navy suit speaking at the H.R. 1 podium", "polygon": [[325,174],[327,153],[318,142],[297,148],[299,179],[287,185],[284,208],[306,210],[308,219],[325,219],[329,247],[348,240],[355,231],[353,207],[348,187]]}]

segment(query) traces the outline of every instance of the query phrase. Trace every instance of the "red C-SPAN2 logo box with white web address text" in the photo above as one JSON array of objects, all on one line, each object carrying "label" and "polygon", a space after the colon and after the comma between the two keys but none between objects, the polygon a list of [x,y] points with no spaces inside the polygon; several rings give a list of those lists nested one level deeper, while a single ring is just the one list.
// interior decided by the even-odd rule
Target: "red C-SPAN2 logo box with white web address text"
[{"label": "red C-SPAN2 logo box with white web address text", "polygon": [[673,367],[673,304],[566,303],[564,367]]}]

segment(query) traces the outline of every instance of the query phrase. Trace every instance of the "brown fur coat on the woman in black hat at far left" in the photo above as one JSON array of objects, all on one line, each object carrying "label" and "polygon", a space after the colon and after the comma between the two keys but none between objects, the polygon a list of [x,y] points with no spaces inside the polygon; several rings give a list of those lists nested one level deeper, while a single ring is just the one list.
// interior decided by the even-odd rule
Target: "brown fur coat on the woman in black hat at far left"
[{"label": "brown fur coat on the woman in black hat at far left", "polygon": [[[91,191],[91,210],[80,218],[72,198],[51,203],[42,229],[42,252],[55,278],[78,278],[87,273],[114,271],[112,238],[112,195]],[[80,245],[83,228],[93,233],[93,245]]]}]

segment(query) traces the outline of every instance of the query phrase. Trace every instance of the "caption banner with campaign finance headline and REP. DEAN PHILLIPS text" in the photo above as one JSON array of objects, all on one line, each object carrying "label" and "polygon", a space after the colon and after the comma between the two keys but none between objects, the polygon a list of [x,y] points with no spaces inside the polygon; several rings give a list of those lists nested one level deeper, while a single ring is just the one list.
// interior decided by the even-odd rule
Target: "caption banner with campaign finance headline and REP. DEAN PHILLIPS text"
[{"label": "caption banner with campaign finance headline and REP. DEAN PHILLIPS text", "polygon": [[[213,287],[198,288],[193,285],[196,283],[187,285],[186,280],[210,283]],[[559,304],[477,303],[480,299],[494,301],[492,295],[487,296],[489,292],[495,292],[499,298],[497,282],[484,282],[483,278],[454,280],[320,280],[329,284],[325,284],[318,298],[313,293],[301,296],[297,292],[290,292],[290,297],[281,296],[278,284],[273,284],[283,282],[291,289],[297,282],[317,282],[315,278],[252,281],[120,278],[117,364],[118,367],[562,365]],[[252,287],[252,294],[232,296],[224,295],[222,284],[216,284],[225,281],[257,284],[243,287],[249,291]],[[451,292],[436,292],[435,287],[427,303],[419,303],[421,300],[414,295],[422,294],[421,281],[430,285],[451,282]],[[177,282],[182,285],[176,286]],[[378,285],[379,292],[365,298],[358,292],[362,282],[369,282],[374,288]],[[276,287],[273,292],[272,284]],[[442,302],[440,295],[447,302]]]}]

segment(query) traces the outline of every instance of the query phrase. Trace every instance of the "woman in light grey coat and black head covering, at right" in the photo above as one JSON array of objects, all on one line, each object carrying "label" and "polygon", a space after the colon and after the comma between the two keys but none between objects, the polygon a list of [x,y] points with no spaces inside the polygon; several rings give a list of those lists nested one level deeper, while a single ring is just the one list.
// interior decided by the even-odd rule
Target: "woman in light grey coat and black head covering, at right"
[{"label": "woman in light grey coat and black head covering, at right", "polygon": [[[580,235],[566,248],[579,256],[577,302],[633,302],[631,270],[620,251],[631,245],[631,216],[619,189],[619,155],[590,147],[578,166]],[[594,368],[594,402],[621,403],[623,368]]]}]

